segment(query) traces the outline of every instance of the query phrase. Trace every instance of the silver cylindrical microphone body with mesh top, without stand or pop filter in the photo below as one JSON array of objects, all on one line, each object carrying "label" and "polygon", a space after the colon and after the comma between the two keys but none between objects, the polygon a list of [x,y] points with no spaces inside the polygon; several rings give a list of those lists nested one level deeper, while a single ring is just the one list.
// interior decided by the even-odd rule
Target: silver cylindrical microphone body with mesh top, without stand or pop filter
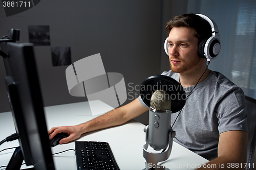
[{"label": "silver cylindrical microphone body with mesh top, without stand or pop filter", "polygon": [[148,141],[156,151],[167,148],[169,144],[171,104],[172,100],[166,91],[157,90],[152,94]]}]

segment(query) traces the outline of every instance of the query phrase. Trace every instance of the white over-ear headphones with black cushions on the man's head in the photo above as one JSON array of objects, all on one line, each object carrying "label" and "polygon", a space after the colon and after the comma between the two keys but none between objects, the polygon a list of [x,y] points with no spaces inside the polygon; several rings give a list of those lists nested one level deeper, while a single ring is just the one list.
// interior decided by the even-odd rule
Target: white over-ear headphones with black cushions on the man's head
[{"label": "white over-ear headphones with black cushions on the man's head", "polygon": [[[212,36],[202,40],[198,45],[199,57],[206,58],[207,61],[211,61],[217,57],[217,55],[221,50],[219,29],[214,20],[211,20],[210,18],[202,14],[196,14],[196,15],[199,15],[203,19],[208,21],[211,26]],[[168,54],[169,45],[168,45],[167,39],[168,37],[165,39],[165,42],[164,42],[164,51],[169,56]]]}]

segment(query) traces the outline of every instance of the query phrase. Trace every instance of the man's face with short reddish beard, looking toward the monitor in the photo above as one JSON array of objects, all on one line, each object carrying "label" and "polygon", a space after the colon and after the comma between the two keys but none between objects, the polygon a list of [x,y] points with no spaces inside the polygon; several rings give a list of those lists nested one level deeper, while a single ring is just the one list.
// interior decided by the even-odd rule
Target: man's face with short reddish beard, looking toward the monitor
[{"label": "man's face with short reddish beard, looking toward the monitor", "polygon": [[174,72],[185,73],[199,66],[198,38],[195,29],[174,27],[168,37],[170,69]]}]

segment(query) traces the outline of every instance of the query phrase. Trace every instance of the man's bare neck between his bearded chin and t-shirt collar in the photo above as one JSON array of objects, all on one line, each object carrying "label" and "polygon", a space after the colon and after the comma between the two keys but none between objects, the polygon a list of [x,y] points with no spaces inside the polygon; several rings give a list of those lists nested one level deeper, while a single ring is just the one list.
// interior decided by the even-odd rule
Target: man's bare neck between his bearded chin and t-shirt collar
[{"label": "man's bare neck between his bearded chin and t-shirt collar", "polygon": [[[198,80],[200,79],[200,77],[203,75],[205,69],[206,67],[203,69],[202,68],[198,69],[196,71],[180,73],[180,84],[182,85],[182,87],[185,88],[185,87],[195,86]],[[198,84],[203,82],[208,77],[209,73],[210,73],[210,70],[207,68],[204,75],[198,82]]]}]

